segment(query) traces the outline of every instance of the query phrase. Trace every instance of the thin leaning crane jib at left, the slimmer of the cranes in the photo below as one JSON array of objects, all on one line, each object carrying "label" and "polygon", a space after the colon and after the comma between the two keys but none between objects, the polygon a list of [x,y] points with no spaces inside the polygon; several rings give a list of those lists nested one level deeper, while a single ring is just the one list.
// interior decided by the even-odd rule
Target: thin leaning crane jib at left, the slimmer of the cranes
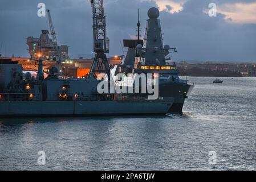
[{"label": "thin leaning crane jib at left, the slimmer of the cranes", "polygon": [[54,24],[52,23],[50,10],[47,10],[47,14],[48,14],[48,21],[49,21],[50,32],[51,32],[51,37],[52,37],[52,43],[54,45],[56,62],[58,63],[59,73],[61,74],[62,73],[62,61],[63,61],[62,60],[62,55],[61,55],[60,50],[59,50],[58,41],[57,41],[56,33],[55,33],[55,30],[54,30]]}]

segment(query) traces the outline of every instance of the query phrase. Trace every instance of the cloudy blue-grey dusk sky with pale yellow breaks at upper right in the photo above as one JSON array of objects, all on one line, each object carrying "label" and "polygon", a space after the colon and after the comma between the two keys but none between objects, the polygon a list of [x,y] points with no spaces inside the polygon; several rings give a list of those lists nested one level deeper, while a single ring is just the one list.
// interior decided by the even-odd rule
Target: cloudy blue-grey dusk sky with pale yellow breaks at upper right
[{"label": "cloudy blue-grey dusk sky with pale yellow breaks at upper right", "polygon": [[[38,3],[50,9],[58,43],[70,46],[72,58],[92,55],[90,0],[1,0],[3,56],[28,57],[27,36],[48,29]],[[209,16],[210,3],[216,3],[217,16]],[[144,36],[147,11],[158,7],[164,44],[178,51],[173,60],[256,62],[256,0],[104,0],[104,7],[109,56],[123,55],[123,39],[135,38],[138,9]]]}]

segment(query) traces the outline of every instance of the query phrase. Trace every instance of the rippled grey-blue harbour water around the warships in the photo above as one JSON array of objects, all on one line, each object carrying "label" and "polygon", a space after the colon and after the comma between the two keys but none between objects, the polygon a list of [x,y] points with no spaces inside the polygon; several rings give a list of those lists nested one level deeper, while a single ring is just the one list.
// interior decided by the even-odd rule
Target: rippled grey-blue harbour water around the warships
[{"label": "rippled grey-blue harbour water around the warships", "polygon": [[182,115],[0,119],[0,169],[255,170],[256,78],[223,79],[190,77]]}]

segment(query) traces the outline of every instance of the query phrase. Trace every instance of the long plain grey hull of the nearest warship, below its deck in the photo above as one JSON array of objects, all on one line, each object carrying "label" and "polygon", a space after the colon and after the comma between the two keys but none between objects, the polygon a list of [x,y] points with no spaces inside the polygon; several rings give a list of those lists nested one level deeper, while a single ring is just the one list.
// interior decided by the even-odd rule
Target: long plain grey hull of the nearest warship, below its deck
[{"label": "long plain grey hull of the nearest warship, below its deck", "polygon": [[0,102],[0,117],[59,117],[91,115],[165,115],[168,101],[13,101]]}]

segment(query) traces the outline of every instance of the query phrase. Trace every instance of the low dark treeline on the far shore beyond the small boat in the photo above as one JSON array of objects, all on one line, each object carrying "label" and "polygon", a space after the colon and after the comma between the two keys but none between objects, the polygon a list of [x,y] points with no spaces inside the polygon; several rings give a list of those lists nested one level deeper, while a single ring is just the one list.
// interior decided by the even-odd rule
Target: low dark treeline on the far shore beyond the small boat
[{"label": "low dark treeline on the far shore beyond the small boat", "polygon": [[201,68],[191,68],[184,69],[184,67],[178,67],[180,71],[180,76],[209,76],[209,77],[241,77],[239,72],[232,71],[220,71],[220,70],[212,70],[212,69],[201,69]]}]

